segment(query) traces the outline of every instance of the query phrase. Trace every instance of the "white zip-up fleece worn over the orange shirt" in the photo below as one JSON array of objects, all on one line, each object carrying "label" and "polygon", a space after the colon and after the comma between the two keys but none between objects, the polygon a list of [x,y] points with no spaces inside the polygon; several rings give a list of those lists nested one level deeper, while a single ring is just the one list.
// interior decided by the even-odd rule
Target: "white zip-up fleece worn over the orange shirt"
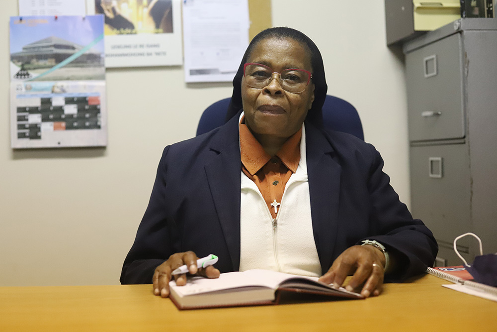
[{"label": "white zip-up fleece worn over the orange shirt", "polygon": [[299,166],[285,186],[275,220],[255,183],[241,173],[240,271],[267,269],[321,276],[312,229],[304,125]]}]

